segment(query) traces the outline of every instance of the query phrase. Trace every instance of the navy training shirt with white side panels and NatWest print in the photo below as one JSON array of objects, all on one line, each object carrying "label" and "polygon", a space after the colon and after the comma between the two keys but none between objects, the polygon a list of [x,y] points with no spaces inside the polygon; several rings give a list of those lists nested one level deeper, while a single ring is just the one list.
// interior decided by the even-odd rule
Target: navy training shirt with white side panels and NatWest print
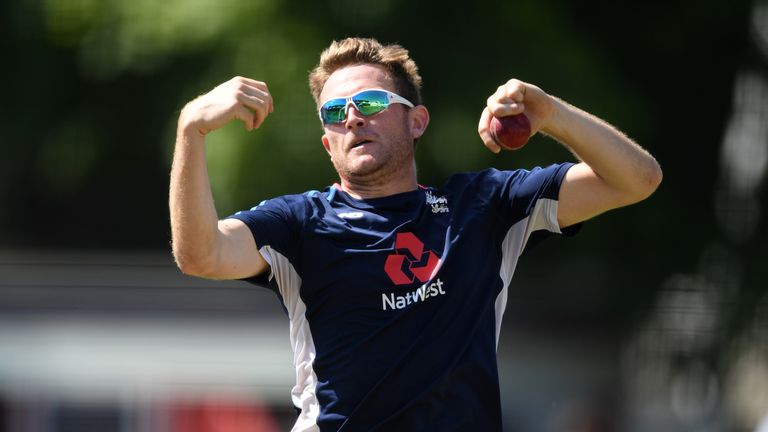
[{"label": "navy training shirt with white side panels and NatWest print", "polygon": [[517,260],[560,233],[572,164],[358,200],[331,186],[231,217],[290,319],[294,431],[500,431],[496,347]]}]

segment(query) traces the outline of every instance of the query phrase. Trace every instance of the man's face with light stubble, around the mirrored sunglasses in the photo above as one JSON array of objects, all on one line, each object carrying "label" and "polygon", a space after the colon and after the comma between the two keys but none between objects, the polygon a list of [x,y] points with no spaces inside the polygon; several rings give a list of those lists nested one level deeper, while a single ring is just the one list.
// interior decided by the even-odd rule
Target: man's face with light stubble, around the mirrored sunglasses
[{"label": "man's face with light stubble, around the mirrored sunglasses", "polygon": [[[320,103],[371,88],[395,92],[384,68],[348,66],[331,74],[320,93]],[[369,117],[350,106],[345,121],[323,126],[323,146],[342,181],[386,182],[413,169],[415,137],[410,124],[408,107],[402,104],[391,104]]]}]

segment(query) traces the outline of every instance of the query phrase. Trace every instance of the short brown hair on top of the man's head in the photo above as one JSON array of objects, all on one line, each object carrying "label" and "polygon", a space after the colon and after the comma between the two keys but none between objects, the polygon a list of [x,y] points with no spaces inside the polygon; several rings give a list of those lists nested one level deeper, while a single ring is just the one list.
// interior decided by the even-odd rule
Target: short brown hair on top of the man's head
[{"label": "short brown hair on top of the man's head", "polygon": [[320,63],[309,73],[309,89],[315,104],[320,103],[320,93],[332,73],[356,64],[384,67],[394,81],[396,92],[414,105],[421,105],[421,76],[416,62],[408,56],[408,50],[400,45],[382,45],[368,38],[333,41],[320,54]]}]

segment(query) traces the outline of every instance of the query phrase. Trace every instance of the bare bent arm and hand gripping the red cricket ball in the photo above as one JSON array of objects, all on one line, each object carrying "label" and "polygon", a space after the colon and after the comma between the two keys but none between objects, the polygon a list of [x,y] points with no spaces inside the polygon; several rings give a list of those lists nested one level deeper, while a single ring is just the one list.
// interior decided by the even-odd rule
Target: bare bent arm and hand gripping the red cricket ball
[{"label": "bare bent arm and hand gripping the red cricket ball", "polygon": [[560,188],[561,227],[642,201],[661,183],[656,159],[615,127],[519,80],[508,81],[488,98],[478,125],[486,147],[500,151],[489,132],[491,114],[520,113],[530,119],[532,133],[555,138],[581,161],[568,170]]}]

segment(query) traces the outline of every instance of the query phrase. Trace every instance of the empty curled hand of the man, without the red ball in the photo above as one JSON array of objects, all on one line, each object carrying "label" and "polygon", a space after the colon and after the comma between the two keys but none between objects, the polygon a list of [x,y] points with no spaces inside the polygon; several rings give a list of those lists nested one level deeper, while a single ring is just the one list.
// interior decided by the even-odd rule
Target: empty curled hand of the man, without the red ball
[{"label": "empty curled hand of the man, without the red ball", "polygon": [[205,136],[237,119],[251,131],[273,110],[266,83],[238,76],[189,102],[181,111],[179,126]]}]

